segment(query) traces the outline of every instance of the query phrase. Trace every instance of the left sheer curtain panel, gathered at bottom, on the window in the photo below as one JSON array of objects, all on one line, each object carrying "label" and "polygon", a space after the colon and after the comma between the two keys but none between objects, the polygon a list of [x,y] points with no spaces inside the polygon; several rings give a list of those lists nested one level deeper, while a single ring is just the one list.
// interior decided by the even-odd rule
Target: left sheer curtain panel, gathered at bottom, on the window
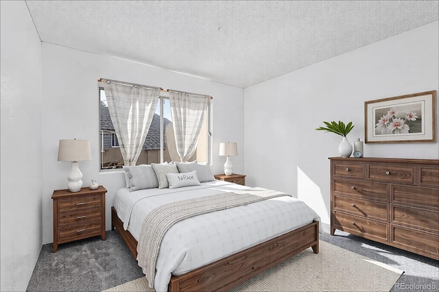
[{"label": "left sheer curtain panel, gathered at bottom, on the window", "polygon": [[108,111],[125,165],[136,165],[150,129],[159,88],[104,83]]}]

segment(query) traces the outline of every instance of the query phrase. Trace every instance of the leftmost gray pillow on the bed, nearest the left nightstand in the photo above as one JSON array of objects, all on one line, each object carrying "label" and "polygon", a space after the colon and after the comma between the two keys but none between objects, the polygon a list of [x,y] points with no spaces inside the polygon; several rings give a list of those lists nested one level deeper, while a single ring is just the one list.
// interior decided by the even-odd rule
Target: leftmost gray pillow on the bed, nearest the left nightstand
[{"label": "leftmost gray pillow on the bed, nearest the left nightstand", "polygon": [[126,167],[126,172],[130,178],[130,192],[145,188],[158,188],[156,173],[151,165]]}]

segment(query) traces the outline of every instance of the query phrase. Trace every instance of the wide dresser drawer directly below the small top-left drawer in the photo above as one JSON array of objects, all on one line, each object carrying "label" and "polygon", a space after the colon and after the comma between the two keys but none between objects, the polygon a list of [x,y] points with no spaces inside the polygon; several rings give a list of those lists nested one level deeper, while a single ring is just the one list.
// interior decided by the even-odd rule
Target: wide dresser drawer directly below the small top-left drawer
[{"label": "wide dresser drawer directly below the small top-left drawer", "polygon": [[388,201],[388,184],[367,182],[364,180],[333,180],[333,192],[351,195],[361,199],[379,199]]}]

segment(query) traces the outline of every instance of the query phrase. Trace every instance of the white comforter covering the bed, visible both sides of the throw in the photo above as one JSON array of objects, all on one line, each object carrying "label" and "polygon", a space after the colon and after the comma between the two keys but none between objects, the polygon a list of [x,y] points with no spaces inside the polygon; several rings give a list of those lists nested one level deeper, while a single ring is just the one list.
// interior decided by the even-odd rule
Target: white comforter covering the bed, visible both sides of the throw
[{"label": "white comforter covering the bed, visible both sides of the throw", "polygon": [[[157,206],[182,199],[246,189],[220,180],[184,188],[121,188],[113,206],[124,228],[139,241],[143,219]],[[284,196],[192,217],[171,227],[158,252],[156,291],[167,291],[171,274],[182,275],[291,230],[320,221],[304,202]]]}]

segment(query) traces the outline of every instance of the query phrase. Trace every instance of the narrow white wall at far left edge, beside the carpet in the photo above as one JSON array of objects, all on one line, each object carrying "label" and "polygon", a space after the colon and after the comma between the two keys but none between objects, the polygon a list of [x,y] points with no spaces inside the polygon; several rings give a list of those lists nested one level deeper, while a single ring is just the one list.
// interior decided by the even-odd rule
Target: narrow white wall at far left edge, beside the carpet
[{"label": "narrow white wall at far left edge, beside the carpet", "polygon": [[41,237],[41,42],[24,1],[1,10],[1,291],[25,291]]}]

